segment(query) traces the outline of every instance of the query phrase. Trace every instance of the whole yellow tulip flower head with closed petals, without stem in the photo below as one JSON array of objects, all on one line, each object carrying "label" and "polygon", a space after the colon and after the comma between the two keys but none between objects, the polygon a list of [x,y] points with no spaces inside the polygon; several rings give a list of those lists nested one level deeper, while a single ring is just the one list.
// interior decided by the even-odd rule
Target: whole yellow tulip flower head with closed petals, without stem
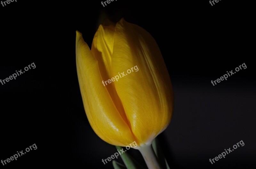
[{"label": "whole yellow tulip flower head with closed petals, without stem", "polygon": [[170,123],[171,80],[156,41],[138,25],[100,25],[91,50],[76,31],[76,67],[86,116],[107,143],[150,145]]}]

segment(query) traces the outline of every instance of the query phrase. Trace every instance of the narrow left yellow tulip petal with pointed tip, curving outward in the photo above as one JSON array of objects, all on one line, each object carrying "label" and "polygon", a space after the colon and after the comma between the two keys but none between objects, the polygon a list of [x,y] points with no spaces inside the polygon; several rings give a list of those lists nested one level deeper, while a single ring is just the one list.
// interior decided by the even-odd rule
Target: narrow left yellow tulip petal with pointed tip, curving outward
[{"label": "narrow left yellow tulip petal with pointed tip, curving outward", "polygon": [[128,124],[102,84],[98,61],[78,31],[76,67],[84,109],[94,132],[109,144],[126,146],[132,143],[134,137]]}]

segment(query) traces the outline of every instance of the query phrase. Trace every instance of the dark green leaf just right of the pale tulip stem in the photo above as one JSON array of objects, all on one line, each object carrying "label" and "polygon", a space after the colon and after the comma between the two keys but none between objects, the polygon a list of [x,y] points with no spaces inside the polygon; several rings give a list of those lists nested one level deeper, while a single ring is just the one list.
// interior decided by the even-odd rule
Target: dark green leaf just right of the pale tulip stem
[{"label": "dark green leaf just right of the pale tulip stem", "polygon": [[156,137],[152,143],[153,150],[156,153],[156,157],[158,158],[159,164],[163,167],[163,169],[170,169],[166,159],[164,158],[164,153],[162,151],[162,148],[160,146],[160,142],[158,138]]}]

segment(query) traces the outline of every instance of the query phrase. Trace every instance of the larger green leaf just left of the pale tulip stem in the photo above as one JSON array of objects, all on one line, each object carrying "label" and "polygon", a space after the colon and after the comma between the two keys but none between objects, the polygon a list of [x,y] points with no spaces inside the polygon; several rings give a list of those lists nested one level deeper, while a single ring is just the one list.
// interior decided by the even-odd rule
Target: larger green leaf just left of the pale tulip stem
[{"label": "larger green leaf just left of the pale tulip stem", "polygon": [[[116,146],[116,149],[122,150],[122,147]],[[143,167],[127,152],[122,153],[120,156],[124,161],[124,165],[127,167],[127,169],[143,169]]]}]

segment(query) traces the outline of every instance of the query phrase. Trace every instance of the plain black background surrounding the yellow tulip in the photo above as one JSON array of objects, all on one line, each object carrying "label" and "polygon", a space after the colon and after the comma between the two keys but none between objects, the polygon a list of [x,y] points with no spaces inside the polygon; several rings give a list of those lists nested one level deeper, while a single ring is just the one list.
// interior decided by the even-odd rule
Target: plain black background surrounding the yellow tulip
[{"label": "plain black background surrounding the yellow tulip", "polygon": [[[116,149],[93,132],[86,118],[75,62],[76,30],[91,46],[104,15],[141,26],[159,45],[175,97],[172,121],[159,135],[170,167],[253,168],[251,2],[211,6],[209,1],[117,0],[105,7],[100,2],[17,0],[0,6],[0,79],[36,65],[0,84],[0,160],[37,146],[0,168],[113,168],[101,162]],[[243,63],[246,69],[212,85],[211,80]],[[241,140],[243,147],[213,165],[209,162]],[[138,151],[129,153],[142,160]]]}]

